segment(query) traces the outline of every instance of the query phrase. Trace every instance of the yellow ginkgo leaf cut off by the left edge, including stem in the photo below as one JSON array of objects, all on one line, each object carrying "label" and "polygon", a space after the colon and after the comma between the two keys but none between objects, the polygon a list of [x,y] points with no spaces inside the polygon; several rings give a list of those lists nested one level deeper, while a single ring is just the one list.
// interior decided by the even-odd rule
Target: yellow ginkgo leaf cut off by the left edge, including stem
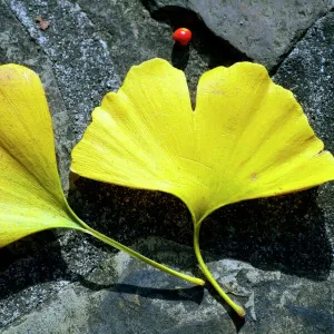
[{"label": "yellow ginkgo leaf cut off by the left edge, including stem", "polygon": [[76,216],[62,193],[51,117],[39,77],[22,66],[0,66],[0,247],[57,227],[85,232],[154,267],[204,284],[108,238]]}]

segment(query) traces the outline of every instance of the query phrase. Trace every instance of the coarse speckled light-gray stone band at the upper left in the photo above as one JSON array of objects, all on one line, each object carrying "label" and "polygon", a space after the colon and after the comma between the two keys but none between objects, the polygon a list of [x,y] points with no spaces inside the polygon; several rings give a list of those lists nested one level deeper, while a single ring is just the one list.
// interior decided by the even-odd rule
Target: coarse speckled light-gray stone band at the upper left
[{"label": "coarse speckled light-gray stone band at the upper left", "polygon": [[[52,61],[63,102],[80,138],[101,94],[119,87],[110,52],[98,29],[78,3],[67,0],[10,0],[13,13],[30,37]],[[41,16],[51,23],[43,31],[36,22]]]}]

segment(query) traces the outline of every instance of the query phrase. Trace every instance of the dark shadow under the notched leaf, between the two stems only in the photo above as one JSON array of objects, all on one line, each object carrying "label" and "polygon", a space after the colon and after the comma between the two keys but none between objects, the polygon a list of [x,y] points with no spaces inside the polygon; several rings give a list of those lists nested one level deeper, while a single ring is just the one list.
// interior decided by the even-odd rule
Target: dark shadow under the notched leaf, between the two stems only
[{"label": "dark shadow under the notched leaf, between the two stems only", "polygon": [[[69,203],[92,228],[125,245],[157,236],[190,245],[193,223],[186,206],[176,197],[159,191],[130,189],[79,178]],[[96,246],[107,247],[90,238]]]}]

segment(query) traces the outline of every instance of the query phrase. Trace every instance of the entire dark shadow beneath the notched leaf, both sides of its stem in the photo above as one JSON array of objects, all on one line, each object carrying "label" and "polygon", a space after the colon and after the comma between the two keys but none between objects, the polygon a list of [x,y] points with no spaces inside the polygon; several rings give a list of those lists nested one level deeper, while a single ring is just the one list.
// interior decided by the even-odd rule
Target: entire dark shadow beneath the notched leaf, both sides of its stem
[{"label": "entire dark shadow beneath the notched leaf, both sides of its stem", "polygon": [[[235,258],[266,271],[325,279],[331,245],[316,194],[310,189],[220,208],[203,223],[200,247],[216,259]],[[126,245],[157,236],[193,246],[190,215],[171,195],[80,178],[70,202],[85,222]]]}]

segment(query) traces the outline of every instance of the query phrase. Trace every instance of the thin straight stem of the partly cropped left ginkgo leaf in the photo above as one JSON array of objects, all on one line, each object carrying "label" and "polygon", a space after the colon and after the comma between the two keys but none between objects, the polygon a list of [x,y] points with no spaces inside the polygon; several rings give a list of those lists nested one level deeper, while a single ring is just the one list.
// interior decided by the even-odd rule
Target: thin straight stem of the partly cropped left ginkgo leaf
[{"label": "thin straight stem of the partly cropped left ginkgo leaf", "polygon": [[120,244],[120,243],[118,243],[118,242],[116,242],[116,240],[107,237],[106,235],[104,235],[104,234],[101,234],[101,233],[99,233],[99,232],[90,228],[87,224],[85,224],[84,232],[87,233],[87,234],[89,234],[89,235],[91,235],[91,236],[94,236],[94,237],[96,237],[97,239],[99,239],[99,240],[101,240],[101,242],[104,242],[104,243],[106,243],[106,244],[115,247],[118,250],[122,250],[122,252],[129,254],[132,257],[136,257],[138,259],[144,261],[148,265],[150,265],[150,266],[153,266],[153,267],[155,267],[157,269],[160,269],[160,271],[163,271],[163,272],[165,272],[167,274],[170,274],[173,276],[176,276],[178,278],[181,278],[181,279],[187,281],[187,282],[189,282],[191,284],[195,284],[195,285],[205,285],[205,282],[203,279],[194,277],[194,276],[189,276],[189,275],[186,275],[186,274],[181,274],[181,273],[179,273],[177,271],[174,271],[174,269],[171,269],[169,267],[166,267],[166,266],[164,266],[164,265],[161,265],[161,264],[159,264],[159,263],[157,263],[157,262],[155,262],[155,261],[153,261],[153,259],[150,259],[150,258],[148,258],[148,257],[146,257],[146,256],[137,253],[137,252],[135,252],[134,249],[131,249],[131,248],[129,248],[129,247],[127,247],[127,246],[125,246],[125,245],[122,245],[122,244]]}]

